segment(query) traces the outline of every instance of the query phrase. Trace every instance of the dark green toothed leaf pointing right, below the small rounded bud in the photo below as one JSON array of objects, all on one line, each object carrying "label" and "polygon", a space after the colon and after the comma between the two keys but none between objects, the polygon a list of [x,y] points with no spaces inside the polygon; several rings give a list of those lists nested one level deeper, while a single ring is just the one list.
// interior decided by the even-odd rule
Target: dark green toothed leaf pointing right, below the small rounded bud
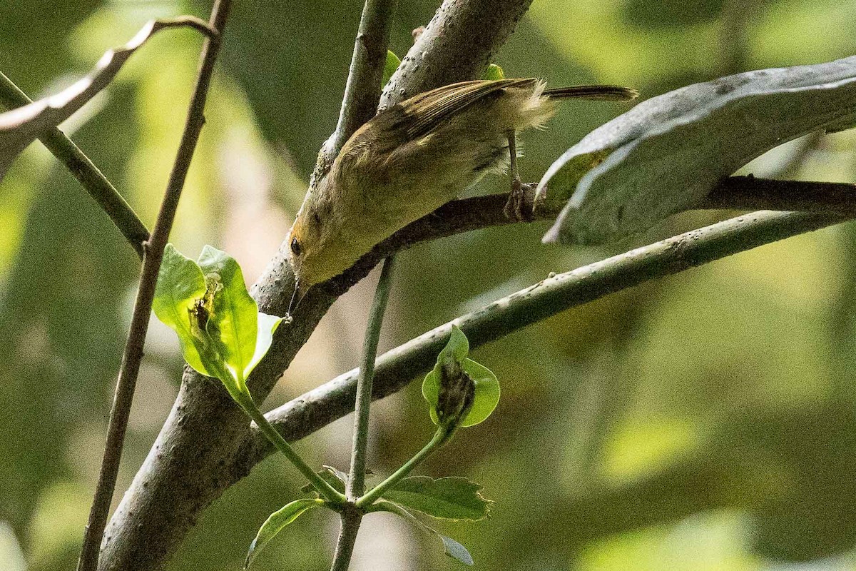
[{"label": "dark green toothed leaf pointing right, below the small rounded bud", "polygon": [[481,488],[466,478],[412,476],[401,479],[383,497],[437,519],[478,521],[487,517],[492,503],[479,494]]}]

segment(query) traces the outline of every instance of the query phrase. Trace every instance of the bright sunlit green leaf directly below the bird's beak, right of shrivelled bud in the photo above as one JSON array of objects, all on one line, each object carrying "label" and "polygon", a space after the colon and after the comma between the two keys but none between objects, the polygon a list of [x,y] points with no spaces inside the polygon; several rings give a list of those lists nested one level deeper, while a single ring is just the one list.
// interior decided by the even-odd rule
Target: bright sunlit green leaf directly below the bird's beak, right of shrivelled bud
[{"label": "bright sunlit green leaf directly below the bird's beak, right of shrivelled bud", "polygon": [[[205,246],[199,254],[199,267],[205,275],[209,294],[213,293],[208,334],[229,372],[241,390],[245,390],[244,373],[254,365],[256,354],[259,306],[247,292],[241,266],[228,253]],[[265,325],[271,326],[267,322]],[[221,380],[228,382],[228,379]]]}]

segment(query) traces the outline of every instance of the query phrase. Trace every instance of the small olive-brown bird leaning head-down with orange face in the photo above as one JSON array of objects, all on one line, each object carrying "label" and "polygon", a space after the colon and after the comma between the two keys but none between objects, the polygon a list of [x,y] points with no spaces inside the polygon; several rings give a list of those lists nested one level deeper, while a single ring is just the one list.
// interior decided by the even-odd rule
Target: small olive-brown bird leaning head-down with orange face
[{"label": "small olive-brown bird leaning head-down with orange face", "polygon": [[288,234],[297,300],[509,162],[509,206],[519,215],[515,134],[543,126],[556,112],[556,99],[637,95],[621,86],[545,90],[537,79],[463,81],[378,113],[345,143],[300,206]]}]

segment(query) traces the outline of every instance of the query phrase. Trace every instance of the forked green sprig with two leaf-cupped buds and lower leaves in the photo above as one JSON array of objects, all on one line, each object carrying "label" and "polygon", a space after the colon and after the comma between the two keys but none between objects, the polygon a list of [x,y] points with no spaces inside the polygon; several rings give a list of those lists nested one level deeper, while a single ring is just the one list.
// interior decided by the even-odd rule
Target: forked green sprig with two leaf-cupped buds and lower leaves
[{"label": "forked green sprig with two leaf-cupped buds and lower leaves", "polygon": [[[194,262],[168,245],[153,309],[178,334],[187,364],[223,383],[265,437],[309,479],[310,485],[304,491],[316,496],[294,500],[270,514],[250,545],[246,566],[277,533],[306,511],[319,506],[336,512],[346,509],[348,475],[331,467],[318,473],[312,471],[259,412],[250,395],[247,377],[270,348],[282,318],[259,312],[235,259],[206,246]],[[400,515],[440,538],[449,556],[472,565],[473,558],[463,545],[425,525],[411,512],[442,520],[484,519],[491,502],[480,495],[481,486],[457,477],[407,477],[425,458],[448,443],[459,428],[479,424],[496,408],[496,376],[467,358],[468,353],[467,336],[453,326],[448,344],[437,356],[437,365],[422,385],[437,432],[413,458],[351,503],[350,508],[361,514],[385,511]]]}]

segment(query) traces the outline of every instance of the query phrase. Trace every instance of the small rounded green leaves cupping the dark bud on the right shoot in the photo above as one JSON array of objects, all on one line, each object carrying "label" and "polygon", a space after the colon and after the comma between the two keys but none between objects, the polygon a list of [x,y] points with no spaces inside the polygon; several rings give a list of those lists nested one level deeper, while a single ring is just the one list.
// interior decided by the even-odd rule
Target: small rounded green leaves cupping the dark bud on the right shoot
[{"label": "small rounded green leaves cupping the dark bud on the right shoot", "polygon": [[449,335],[449,342],[443,351],[437,355],[437,365],[425,375],[425,380],[422,382],[422,396],[429,405],[429,414],[431,421],[439,424],[437,416],[437,402],[440,398],[440,380],[443,363],[446,360],[454,359],[461,364],[461,368],[475,384],[475,396],[473,398],[473,407],[470,408],[467,417],[461,422],[461,426],[478,425],[484,419],[490,416],[496,405],[499,403],[499,381],[496,375],[486,366],[480,365],[472,359],[467,359],[470,345],[467,341],[467,336],[461,329],[453,324],[452,331]]}]

